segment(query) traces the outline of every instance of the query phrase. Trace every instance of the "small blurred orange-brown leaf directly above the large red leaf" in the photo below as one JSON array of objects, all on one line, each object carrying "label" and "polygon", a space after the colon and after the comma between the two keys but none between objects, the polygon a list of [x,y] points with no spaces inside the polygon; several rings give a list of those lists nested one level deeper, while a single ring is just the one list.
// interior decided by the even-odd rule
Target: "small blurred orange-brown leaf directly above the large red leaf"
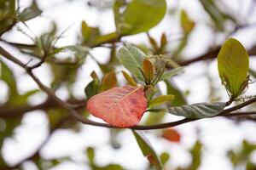
[{"label": "small blurred orange-brown leaf directly above the large red leaf", "polygon": [[114,71],[108,72],[102,78],[101,92],[113,88],[117,85],[117,79]]}]

